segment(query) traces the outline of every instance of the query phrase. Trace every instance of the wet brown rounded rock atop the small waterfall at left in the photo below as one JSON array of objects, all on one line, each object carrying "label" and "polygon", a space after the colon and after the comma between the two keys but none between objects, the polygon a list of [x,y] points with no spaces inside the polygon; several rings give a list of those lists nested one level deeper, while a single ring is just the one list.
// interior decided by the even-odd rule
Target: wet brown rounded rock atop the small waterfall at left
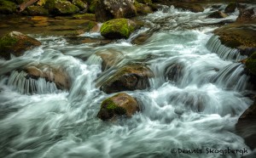
[{"label": "wet brown rounded rock atop the small waterfall at left", "polygon": [[61,68],[54,68],[49,65],[32,65],[22,69],[26,72],[26,78],[44,78],[48,82],[55,82],[56,87],[59,89],[70,88],[70,79],[67,73]]}]

